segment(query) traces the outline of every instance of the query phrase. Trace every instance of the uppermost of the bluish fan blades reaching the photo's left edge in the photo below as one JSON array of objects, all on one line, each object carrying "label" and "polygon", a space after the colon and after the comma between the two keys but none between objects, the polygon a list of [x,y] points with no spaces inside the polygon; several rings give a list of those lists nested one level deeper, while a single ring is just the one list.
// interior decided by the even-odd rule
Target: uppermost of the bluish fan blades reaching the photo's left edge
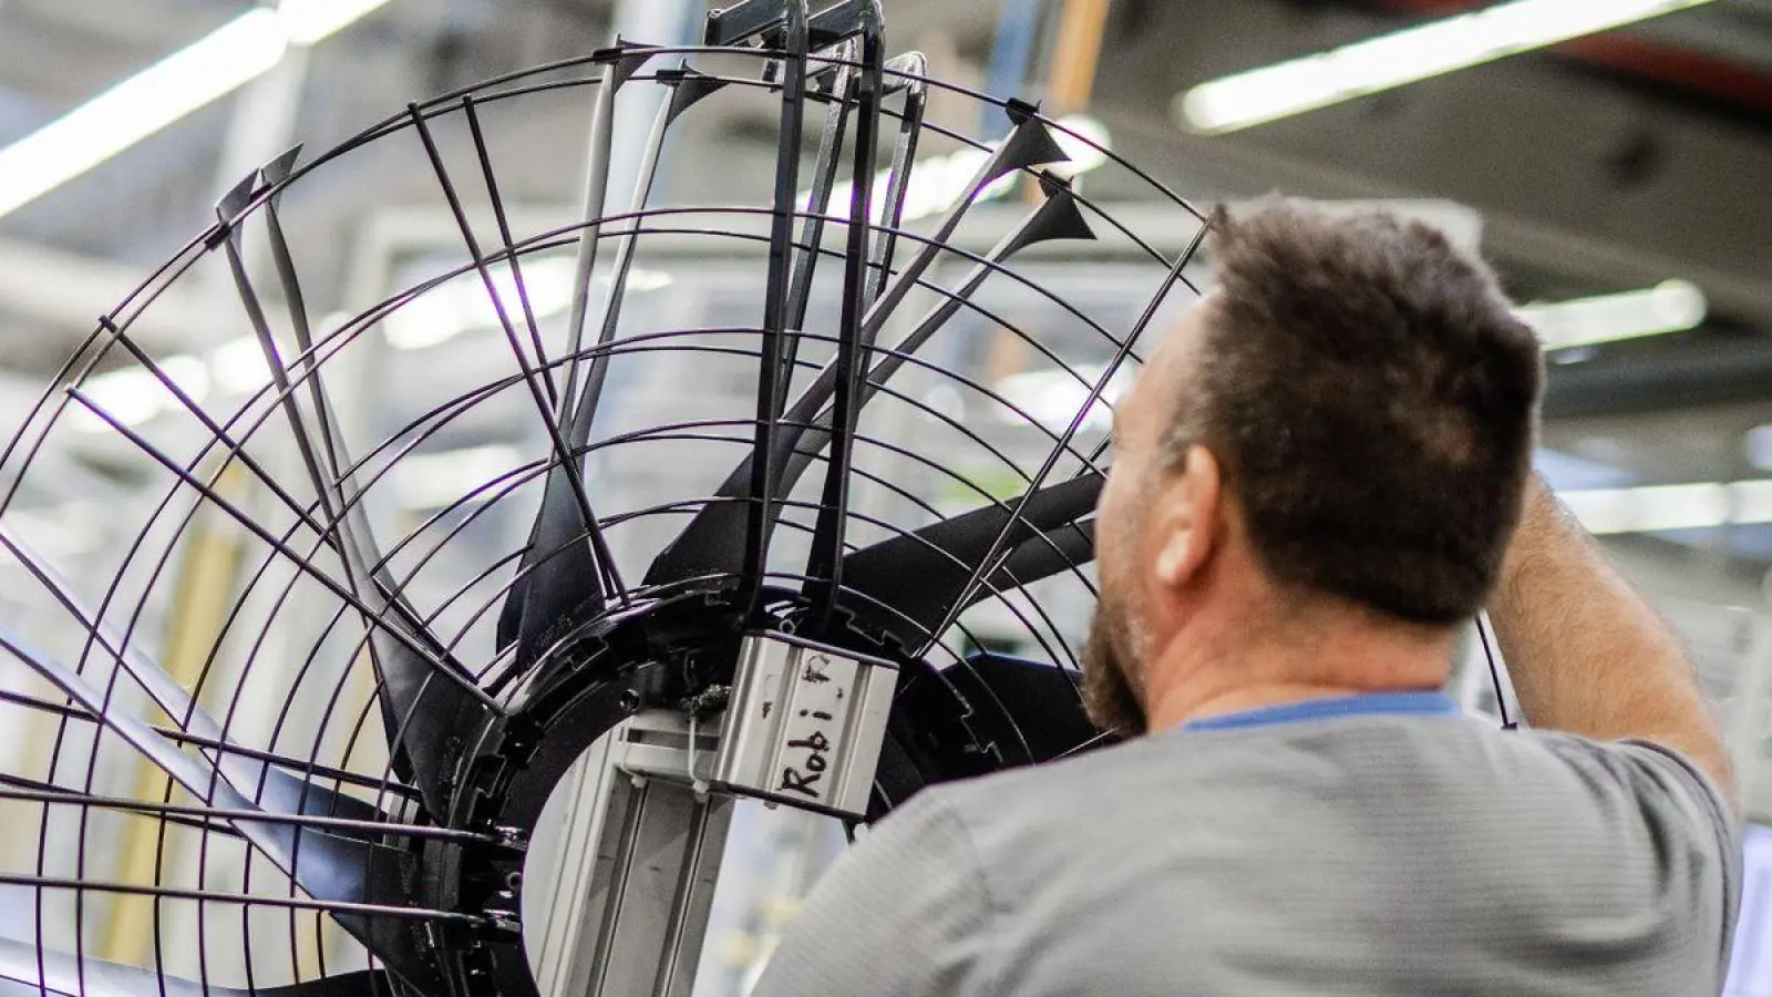
[{"label": "uppermost of the bluish fan blades reaching the photo's left edge", "polygon": [[[34,575],[57,601],[76,619],[80,624],[94,635],[99,648],[106,655],[115,658],[129,678],[154,701],[154,706],[179,722],[186,731],[229,745],[230,742],[209,713],[198,706],[184,687],[181,687],[165,667],[149,658],[133,642],[124,640],[124,635],[117,632],[115,626],[101,623],[97,614],[90,612],[87,607],[74,600],[74,591],[71,584],[55,573],[50,564],[39,557],[34,550],[25,546],[12,530],[0,523],[0,546],[4,546],[14,561],[19,562],[30,575]],[[282,814],[308,814],[308,816],[337,816],[349,820],[377,820],[383,814],[370,804],[358,800],[356,797],[347,797],[344,793],[333,793],[331,789],[308,782],[307,779],[294,775],[284,768],[278,768],[268,761],[255,758],[246,758],[230,750],[214,752],[220,756],[218,768],[222,777],[229,781],[234,789],[245,797],[255,797],[268,809]],[[214,758],[214,756],[211,756]]]}]

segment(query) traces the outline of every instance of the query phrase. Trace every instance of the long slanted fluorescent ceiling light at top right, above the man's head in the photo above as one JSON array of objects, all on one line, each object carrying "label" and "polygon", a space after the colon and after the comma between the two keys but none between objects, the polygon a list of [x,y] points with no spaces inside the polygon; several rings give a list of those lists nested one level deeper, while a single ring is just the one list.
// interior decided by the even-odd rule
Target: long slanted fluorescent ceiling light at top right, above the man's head
[{"label": "long slanted fluorescent ceiling light at top right, above the man's head", "polygon": [[1184,92],[1175,117],[1217,135],[1698,7],[1710,0],[1513,0],[1294,59]]}]

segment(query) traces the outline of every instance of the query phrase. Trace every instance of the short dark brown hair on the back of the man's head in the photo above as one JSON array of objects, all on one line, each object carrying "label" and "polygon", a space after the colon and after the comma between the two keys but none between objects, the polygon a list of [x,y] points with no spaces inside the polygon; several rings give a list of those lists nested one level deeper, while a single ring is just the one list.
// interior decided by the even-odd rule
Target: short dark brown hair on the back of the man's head
[{"label": "short dark brown hair on the back of the man's head", "polygon": [[1173,442],[1219,458],[1276,582],[1414,623],[1478,612],[1531,470],[1533,330],[1419,222],[1271,197],[1214,227],[1219,286]]}]

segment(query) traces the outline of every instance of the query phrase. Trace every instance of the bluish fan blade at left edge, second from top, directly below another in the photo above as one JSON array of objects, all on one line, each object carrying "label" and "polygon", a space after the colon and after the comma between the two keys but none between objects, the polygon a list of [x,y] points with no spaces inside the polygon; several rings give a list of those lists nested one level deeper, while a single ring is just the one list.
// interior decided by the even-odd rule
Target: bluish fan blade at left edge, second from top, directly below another
[{"label": "bluish fan blade at left edge, second from top, directly below another", "polygon": [[[209,763],[184,754],[142,720],[106,710],[105,694],[92,688],[85,678],[4,626],[0,626],[0,648],[97,717],[197,800],[223,811],[266,813],[222,779]],[[245,818],[229,818],[229,823],[314,899],[411,905],[408,883],[418,882],[418,866],[408,852],[292,823]],[[337,915],[337,921],[409,983],[438,977],[424,944],[424,924],[416,921],[395,924],[392,919],[361,915]]]}]

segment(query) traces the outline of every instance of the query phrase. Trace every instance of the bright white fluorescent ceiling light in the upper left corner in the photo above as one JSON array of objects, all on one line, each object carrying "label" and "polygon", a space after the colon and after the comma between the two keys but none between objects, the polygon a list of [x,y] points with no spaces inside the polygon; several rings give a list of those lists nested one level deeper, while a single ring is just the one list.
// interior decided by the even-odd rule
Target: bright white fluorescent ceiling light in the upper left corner
[{"label": "bright white fluorescent ceiling light in the upper left corner", "polygon": [[25,138],[0,149],[0,216],[269,73],[388,0],[284,0],[234,18]]}]

